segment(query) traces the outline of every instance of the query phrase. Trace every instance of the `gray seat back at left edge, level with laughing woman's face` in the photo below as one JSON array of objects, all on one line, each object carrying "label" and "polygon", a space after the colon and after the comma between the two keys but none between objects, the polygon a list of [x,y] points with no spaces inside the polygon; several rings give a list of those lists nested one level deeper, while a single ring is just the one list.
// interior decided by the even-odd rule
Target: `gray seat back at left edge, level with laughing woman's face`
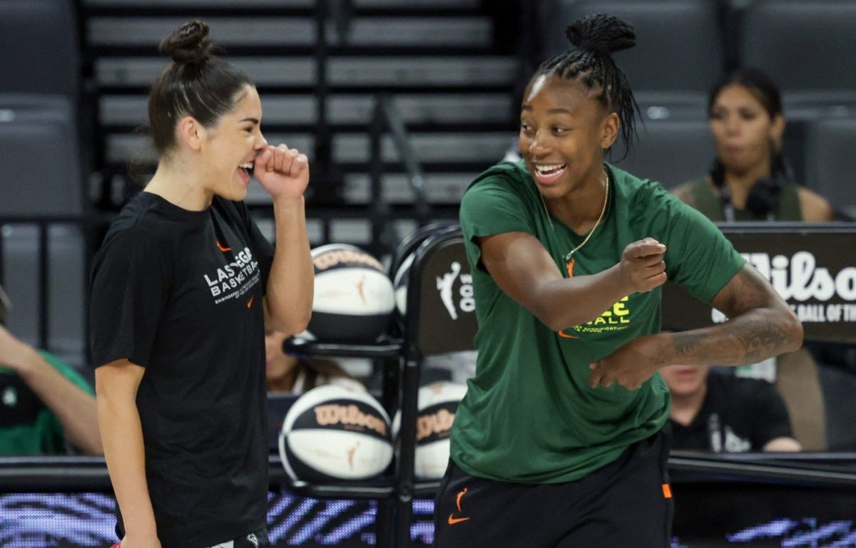
[{"label": "gray seat back at left edge, level with laughing woman's face", "polygon": [[68,99],[0,94],[0,215],[79,214],[78,139]]}]

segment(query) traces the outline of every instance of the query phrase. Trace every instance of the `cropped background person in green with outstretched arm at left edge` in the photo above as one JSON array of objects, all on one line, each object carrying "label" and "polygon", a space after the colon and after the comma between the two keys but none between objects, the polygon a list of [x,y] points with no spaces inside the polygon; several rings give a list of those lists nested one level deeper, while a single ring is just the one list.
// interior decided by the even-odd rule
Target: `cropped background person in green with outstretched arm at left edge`
[{"label": "cropped background person in green with outstretched arm at left edge", "polygon": [[[92,386],[0,325],[0,455],[104,452]],[[73,452],[74,452],[73,451]]]}]

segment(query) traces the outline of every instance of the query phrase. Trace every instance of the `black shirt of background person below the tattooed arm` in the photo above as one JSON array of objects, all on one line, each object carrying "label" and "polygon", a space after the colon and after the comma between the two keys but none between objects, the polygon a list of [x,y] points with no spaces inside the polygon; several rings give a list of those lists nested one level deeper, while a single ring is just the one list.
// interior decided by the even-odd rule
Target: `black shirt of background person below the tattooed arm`
[{"label": "black shirt of background person below the tattooed arm", "polygon": [[765,380],[710,373],[698,415],[686,427],[669,419],[672,449],[727,453],[762,451],[771,439],[793,437],[788,408]]}]

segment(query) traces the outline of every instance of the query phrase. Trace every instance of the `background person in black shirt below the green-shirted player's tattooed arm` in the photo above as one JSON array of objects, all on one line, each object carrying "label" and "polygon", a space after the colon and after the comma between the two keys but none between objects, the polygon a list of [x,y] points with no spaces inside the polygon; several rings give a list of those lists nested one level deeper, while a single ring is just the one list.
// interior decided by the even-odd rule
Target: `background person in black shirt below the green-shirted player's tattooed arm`
[{"label": "background person in black shirt below the green-shirted player's tattooed arm", "polygon": [[802,450],[785,402],[769,382],[711,373],[709,366],[669,365],[660,374],[672,398],[673,450]]}]

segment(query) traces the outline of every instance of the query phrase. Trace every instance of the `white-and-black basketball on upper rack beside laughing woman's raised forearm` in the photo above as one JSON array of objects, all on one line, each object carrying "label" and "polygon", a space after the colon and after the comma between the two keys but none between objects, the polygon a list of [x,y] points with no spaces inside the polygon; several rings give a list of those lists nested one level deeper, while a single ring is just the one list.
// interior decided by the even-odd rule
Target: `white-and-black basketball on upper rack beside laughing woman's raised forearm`
[{"label": "white-and-black basketball on upper rack beside laughing woman's raised forearm", "polygon": [[395,295],[386,268],[359,247],[312,250],[315,293],[308,331],[318,341],[371,344],[387,333]]}]

